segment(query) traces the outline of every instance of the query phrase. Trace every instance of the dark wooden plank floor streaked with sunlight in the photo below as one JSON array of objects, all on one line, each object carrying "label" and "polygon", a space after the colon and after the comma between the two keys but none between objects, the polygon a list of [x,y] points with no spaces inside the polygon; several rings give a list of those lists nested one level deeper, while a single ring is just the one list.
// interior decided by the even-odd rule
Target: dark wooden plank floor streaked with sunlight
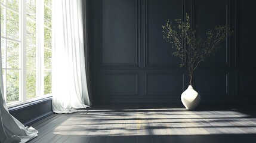
[{"label": "dark wooden plank floor streaked with sunlight", "polygon": [[187,111],[166,104],[94,105],[72,114],[53,114],[32,125],[30,142],[256,142],[256,116],[237,108]]}]

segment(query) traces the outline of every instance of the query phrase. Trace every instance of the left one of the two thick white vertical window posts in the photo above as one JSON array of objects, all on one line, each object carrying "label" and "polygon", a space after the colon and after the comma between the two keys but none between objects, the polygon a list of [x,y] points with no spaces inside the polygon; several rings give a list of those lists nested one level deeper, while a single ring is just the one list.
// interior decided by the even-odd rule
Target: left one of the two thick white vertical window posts
[{"label": "left one of the two thick white vertical window posts", "polygon": [[27,90],[26,90],[26,83],[27,83],[27,64],[26,64],[26,57],[27,57],[27,29],[26,29],[26,1],[20,0],[21,2],[21,102],[27,101]]}]

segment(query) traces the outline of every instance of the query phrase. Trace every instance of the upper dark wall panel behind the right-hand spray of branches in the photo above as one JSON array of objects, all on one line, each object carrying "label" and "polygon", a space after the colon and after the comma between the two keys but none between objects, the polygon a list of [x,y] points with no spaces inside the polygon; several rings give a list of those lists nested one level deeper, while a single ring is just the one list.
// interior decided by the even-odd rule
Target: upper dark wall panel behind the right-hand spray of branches
[{"label": "upper dark wall panel behind the right-hand spray of branches", "polygon": [[[224,0],[205,1],[193,0],[193,18],[194,25],[198,25],[198,35],[203,40],[206,39],[206,32],[214,31],[218,25],[230,24],[230,2]],[[229,66],[229,38],[221,43],[221,48],[215,52],[214,56],[207,58],[201,66]]]}]

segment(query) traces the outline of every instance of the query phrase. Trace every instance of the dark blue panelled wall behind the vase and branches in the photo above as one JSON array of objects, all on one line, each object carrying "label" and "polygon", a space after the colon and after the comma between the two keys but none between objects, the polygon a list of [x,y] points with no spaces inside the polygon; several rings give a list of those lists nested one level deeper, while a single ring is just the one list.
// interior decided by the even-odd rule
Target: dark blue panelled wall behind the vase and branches
[{"label": "dark blue panelled wall behind the vase and branches", "polygon": [[186,67],[162,39],[162,25],[189,13],[201,35],[219,24],[234,34],[196,70],[202,102],[255,102],[254,0],[89,0],[94,102],[176,102]]}]

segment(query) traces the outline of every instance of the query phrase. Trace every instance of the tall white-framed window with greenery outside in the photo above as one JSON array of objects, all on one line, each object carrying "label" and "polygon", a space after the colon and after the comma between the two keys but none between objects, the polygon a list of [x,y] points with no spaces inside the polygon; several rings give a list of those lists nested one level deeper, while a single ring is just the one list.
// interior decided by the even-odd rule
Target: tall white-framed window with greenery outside
[{"label": "tall white-framed window with greenery outside", "polygon": [[51,0],[0,0],[5,101],[51,95]]}]

